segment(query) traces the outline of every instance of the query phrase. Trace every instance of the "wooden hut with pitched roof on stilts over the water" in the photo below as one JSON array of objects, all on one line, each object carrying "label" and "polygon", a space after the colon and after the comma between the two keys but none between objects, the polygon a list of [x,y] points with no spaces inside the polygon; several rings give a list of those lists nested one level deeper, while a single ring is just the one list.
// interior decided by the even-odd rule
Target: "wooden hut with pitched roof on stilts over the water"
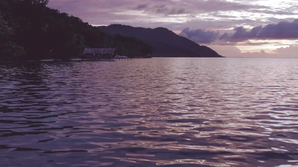
[{"label": "wooden hut with pitched roof on stilts over the water", "polygon": [[114,60],[115,48],[85,48],[82,59]]}]

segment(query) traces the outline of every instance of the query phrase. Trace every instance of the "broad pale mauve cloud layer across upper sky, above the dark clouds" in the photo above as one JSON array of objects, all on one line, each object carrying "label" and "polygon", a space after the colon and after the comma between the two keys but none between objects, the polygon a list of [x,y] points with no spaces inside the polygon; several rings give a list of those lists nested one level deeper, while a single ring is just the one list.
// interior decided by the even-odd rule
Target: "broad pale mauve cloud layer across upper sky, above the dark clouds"
[{"label": "broad pale mauve cloud layer across upper sky, above the dark clouds", "polygon": [[[79,17],[92,25],[119,23],[136,27],[166,27],[170,30],[198,26],[201,28],[230,28],[244,23],[254,26],[254,24],[263,24],[268,21],[268,19],[256,21],[253,17],[241,14],[266,9],[263,4],[251,3],[250,1],[50,0],[48,7]],[[235,15],[235,11],[241,14],[241,17]],[[212,27],[213,25],[215,27]]]}]

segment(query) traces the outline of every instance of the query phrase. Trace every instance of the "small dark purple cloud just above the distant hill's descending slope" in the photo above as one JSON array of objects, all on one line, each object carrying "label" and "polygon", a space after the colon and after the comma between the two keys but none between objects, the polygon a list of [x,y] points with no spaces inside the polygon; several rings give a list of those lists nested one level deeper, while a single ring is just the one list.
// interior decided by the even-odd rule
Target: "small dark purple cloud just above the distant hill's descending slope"
[{"label": "small dark purple cloud just above the distant hill's descending slope", "polygon": [[208,31],[208,30],[190,30],[189,27],[182,30],[182,32],[179,34],[180,36],[186,37],[196,43],[200,44],[207,44],[214,42],[219,38],[219,32],[217,31]]}]

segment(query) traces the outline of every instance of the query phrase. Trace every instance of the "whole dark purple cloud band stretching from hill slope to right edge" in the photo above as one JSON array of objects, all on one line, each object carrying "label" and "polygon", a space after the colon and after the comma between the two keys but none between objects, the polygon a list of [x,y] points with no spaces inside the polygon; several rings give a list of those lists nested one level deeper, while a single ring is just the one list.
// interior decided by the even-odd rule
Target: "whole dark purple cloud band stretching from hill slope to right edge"
[{"label": "whole dark purple cloud band stretching from hill slope to right edge", "polygon": [[298,19],[293,22],[282,21],[253,29],[237,27],[234,31],[220,34],[218,31],[185,28],[180,35],[197,43],[212,43],[216,40],[242,42],[249,39],[298,39]]}]

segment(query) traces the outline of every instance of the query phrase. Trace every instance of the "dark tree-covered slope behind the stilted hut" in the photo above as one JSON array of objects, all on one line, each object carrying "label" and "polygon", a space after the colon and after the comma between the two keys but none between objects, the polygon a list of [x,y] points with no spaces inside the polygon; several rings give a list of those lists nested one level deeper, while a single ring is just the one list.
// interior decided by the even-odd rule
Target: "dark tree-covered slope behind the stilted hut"
[{"label": "dark tree-covered slope behind the stilted hut", "polygon": [[46,7],[48,0],[0,1],[0,61],[69,60],[84,48],[116,48],[135,57],[152,47],[135,38],[108,35],[77,17]]}]

